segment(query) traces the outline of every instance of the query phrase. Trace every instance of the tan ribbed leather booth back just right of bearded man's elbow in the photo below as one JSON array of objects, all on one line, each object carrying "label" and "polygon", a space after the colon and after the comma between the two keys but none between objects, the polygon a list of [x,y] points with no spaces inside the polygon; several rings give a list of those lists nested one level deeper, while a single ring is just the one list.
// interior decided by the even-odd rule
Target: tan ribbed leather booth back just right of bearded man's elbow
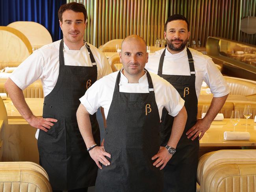
[{"label": "tan ribbed leather booth back just right of bearded man's elbow", "polygon": [[239,79],[224,76],[228,87],[230,88],[231,95],[251,95],[256,94],[256,83],[247,79]]}]

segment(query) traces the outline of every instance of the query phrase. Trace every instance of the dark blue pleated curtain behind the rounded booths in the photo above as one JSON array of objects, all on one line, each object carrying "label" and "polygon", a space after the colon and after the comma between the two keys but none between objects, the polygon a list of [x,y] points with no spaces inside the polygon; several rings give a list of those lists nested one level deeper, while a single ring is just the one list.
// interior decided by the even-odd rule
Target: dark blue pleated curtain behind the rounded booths
[{"label": "dark blue pleated curtain behind the rounded booths", "polygon": [[62,39],[58,10],[67,0],[0,0],[0,26],[15,21],[34,21],[45,26],[52,41]]}]

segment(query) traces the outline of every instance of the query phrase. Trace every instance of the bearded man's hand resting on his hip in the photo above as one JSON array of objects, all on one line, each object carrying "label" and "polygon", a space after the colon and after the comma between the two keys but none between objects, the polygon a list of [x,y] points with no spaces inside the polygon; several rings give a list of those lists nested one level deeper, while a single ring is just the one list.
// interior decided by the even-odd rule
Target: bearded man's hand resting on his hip
[{"label": "bearded man's hand resting on his hip", "polygon": [[191,138],[191,140],[194,140],[201,133],[200,137],[198,138],[200,140],[210,126],[211,123],[209,123],[208,121],[204,121],[204,119],[198,119],[197,123],[187,131],[187,138],[191,138],[194,135]]}]

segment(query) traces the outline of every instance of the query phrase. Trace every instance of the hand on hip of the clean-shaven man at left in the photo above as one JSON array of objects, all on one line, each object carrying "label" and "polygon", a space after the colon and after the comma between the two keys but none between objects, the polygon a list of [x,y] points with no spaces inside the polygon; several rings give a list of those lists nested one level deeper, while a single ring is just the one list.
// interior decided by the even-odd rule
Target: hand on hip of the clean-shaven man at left
[{"label": "hand on hip of the clean-shaven man at left", "polygon": [[30,118],[28,120],[28,123],[32,126],[35,127],[37,129],[42,129],[43,131],[47,132],[48,129],[50,129],[54,124],[52,122],[57,122],[57,119],[53,119],[53,118],[42,118],[42,117],[36,117],[36,116],[32,116],[32,118]]}]

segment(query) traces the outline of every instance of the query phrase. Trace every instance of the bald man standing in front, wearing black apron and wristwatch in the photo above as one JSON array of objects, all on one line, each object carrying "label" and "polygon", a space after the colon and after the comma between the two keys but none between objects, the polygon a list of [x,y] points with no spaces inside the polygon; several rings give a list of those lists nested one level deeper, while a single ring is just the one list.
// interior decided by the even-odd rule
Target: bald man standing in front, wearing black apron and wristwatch
[{"label": "bald man standing in front, wearing black apron and wristwatch", "polygon": [[[80,98],[76,113],[87,151],[100,168],[96,191],[160,192],[162,169],[186,124],[184,100],[170,83],[145,70],[148,53],[141,37],[124,39],[120,61],[123,68],[96,81]],[[100,106],[107,120],[104,147],[96,146],[89,119]],[[166,148],[160,147],[163,107],[174,116]]]}]

